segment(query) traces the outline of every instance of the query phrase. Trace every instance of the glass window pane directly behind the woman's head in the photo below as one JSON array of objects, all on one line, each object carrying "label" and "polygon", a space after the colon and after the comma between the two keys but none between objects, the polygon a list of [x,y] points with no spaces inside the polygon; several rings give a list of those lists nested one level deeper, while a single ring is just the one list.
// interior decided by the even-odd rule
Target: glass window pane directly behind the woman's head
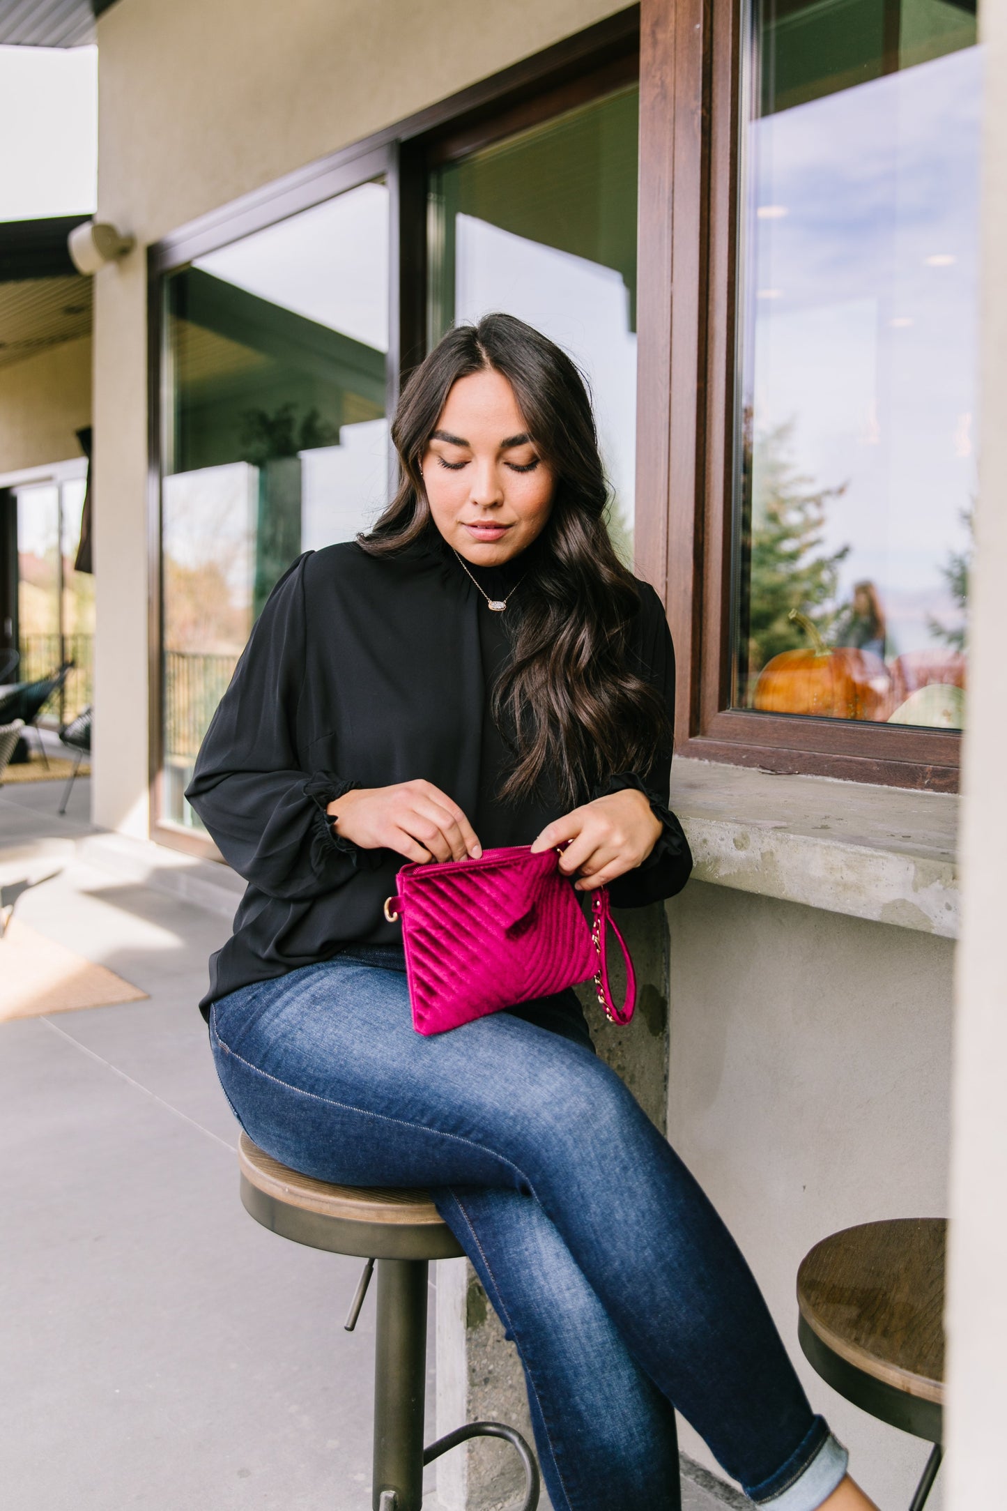
[{"label": "glass window pane directly behind the woman's head", "polygon": [[634,86],[473,153],[430,186],[430,341],[494,310],[563,346],[587,375],[633,559],[637,130]]}]

